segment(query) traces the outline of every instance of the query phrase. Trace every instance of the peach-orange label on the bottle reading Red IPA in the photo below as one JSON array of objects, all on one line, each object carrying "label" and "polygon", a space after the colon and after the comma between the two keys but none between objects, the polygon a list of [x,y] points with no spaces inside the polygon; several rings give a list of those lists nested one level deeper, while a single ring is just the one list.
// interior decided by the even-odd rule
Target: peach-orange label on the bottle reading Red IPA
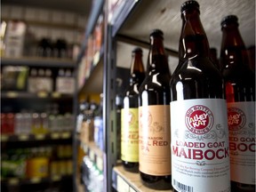
[{"label": "peach-orange label on the bottle reading Red IPA", "polygon": [[163,176],[171,174],[170,107],[152,105],[139,108],[140,172]]}]

